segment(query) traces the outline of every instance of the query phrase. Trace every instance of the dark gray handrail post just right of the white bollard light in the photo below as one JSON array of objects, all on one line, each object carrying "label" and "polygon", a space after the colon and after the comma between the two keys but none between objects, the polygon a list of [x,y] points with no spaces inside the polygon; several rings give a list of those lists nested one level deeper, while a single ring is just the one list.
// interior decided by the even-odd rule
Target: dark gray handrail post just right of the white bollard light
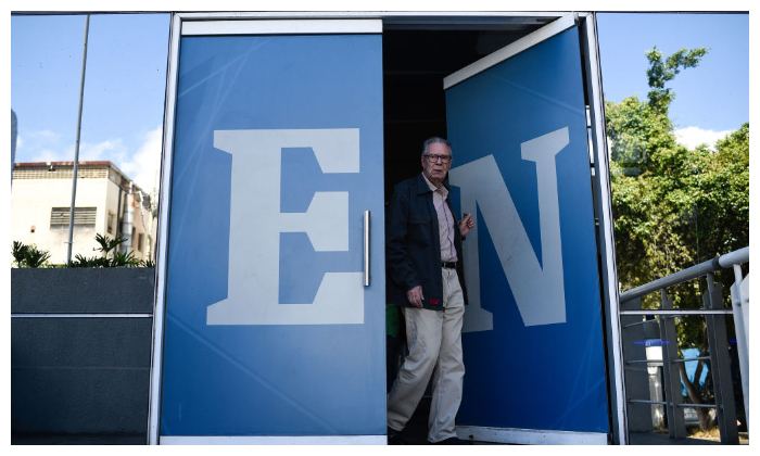
[{"label": "dark gray handrail post just right of the white bollard light", "polygon": [[[666,289],[660,290],[662,297],[661,308],[673,308],[673,300],[668,297]],[[660,319],[660,340],[662,341],[662,373],[664,375],[666,402],[668,403],[668,432],[671,439],[686,436],[686,422],[684,410],[679,407],[683,403],[681,396],[681,373],[674,359],[679,358],[677,334],[675,332],[675,318],[663,317]]]}]

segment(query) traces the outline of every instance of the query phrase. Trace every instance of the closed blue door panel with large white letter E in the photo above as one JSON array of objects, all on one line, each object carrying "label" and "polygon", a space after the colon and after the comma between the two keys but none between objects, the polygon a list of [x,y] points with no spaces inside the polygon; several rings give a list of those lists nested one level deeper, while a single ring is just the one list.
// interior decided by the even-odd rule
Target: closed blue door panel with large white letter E
[{"label": "closed blue door panel with large white letter E", "polygon": [[162,435],[385,433],[381,64],[379,35],[181,39]]}]

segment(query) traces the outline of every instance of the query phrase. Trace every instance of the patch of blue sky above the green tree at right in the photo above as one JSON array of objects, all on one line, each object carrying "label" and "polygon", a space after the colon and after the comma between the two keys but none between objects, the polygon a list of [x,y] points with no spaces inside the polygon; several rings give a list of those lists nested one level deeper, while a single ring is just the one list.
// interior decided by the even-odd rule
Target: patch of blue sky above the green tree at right
[{"label": "patch of blue sky above the green tree at right", "polygon": [[704,47],[710,50],[699,66],[683,69],[667,86],[676,94],[670,110],[676,134],[694,147],[749,121],[748,14],[599,13],[597,26],[606,100],[646,100],[645,52],[653,47],[663,59]]}]

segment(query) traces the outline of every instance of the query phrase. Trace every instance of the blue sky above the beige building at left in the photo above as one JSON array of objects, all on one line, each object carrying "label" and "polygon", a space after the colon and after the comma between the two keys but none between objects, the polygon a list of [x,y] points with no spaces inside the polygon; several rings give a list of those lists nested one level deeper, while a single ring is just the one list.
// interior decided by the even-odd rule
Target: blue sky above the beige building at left
[{"label": "blue sky above the beige building at left", "polygon": [[[144,190],[161,155],[169,14],[90,16],[80,161],[110,160]],[[84,15],[11,18],[16,162],[72,161]]]}]

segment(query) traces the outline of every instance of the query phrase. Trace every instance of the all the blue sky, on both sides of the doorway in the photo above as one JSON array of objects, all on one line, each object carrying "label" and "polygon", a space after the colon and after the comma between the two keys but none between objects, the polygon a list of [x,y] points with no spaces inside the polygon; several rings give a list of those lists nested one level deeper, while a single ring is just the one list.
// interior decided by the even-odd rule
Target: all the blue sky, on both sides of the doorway
[{"label": "all the blue sky, on both sides of the doorway", "polygon": [[[84,15],[11,17],[16,162],[73,160]],[[92,15],[80,160],[110,160],[145,190],[161,153],[168,14]],[[714,142],[749,121],[747,14],[598,15],[605,97],[646,99],[645,51],[710,48],[671,83],[682,142]]]}]

